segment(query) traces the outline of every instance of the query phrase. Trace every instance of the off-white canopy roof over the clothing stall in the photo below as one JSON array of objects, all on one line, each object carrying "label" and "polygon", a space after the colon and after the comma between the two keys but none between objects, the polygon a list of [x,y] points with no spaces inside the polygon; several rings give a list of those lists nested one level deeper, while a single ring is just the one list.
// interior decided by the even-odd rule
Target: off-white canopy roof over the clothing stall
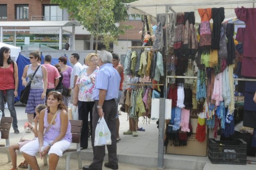
[{"label": "off-white canopy roof over the clothing stall", "polygon": [[127,4],[129,14],[151,15],[154,18],[157,14],[173,12],[195,12],[196,22],[200,23],[198,8],[225,8],[225,20],[236,18],[234,8],[254,8],[254,0],[137,0]]}]

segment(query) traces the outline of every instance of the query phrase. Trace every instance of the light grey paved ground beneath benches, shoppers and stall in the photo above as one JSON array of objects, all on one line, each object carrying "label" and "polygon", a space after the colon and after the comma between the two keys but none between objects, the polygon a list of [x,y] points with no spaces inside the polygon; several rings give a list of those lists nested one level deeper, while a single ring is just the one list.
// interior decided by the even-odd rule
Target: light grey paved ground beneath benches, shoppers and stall
[{"label": "light grey paved ground beneath benches, shoppers and stall", "polygon": [[[18,117],[18,127],[19,134],[14,134],[13,129],[10,131],[10,143],[17,143],[24,131],[23,125],[27,120],[25,114],[25,107],[16,106],[17,117]],[[9,116],[8,109],[5,109],[6,116]],[[119,116],[120,129],[119,134],[121,140],[117,143],[117,153],[119,157],[119,170],[156,170],[158,165],[158,129],[156,128],[156,120],[139,119],[139,127],[145,128],[145,131],[138,131],[138,137],[132,137],[132,135],[123,135],[124,131],[128,130],[127,115],[122,113]],[[32,138],[32,134],[27,134],[25,138]],[[89,139],[90,140],[90,139]],[[0,140],[0,144],[3,143]],[[88,142],[91,143],[90,141]],[[73,146],[74,147],[74,146]],[[93,158],[93,150],[89,145],[88,149],[82,150],[81,157],[83,160],[83,165],[89,165]],[[0,170],[11,169],[11,163],[7,161],[7,156],[4,153],[0,153]],[[73,157],[76,158],[76,157]],[[253,158],[255,159],[255,158]],[[23,161],[22,155],[18,155],[18,161]],[[39,160],[41,170],[48,169],[47,166],[43,165],[43,161]],[[107,161],[107,154],[105,156],[105,161]],[[70,170],[77,170],[78,165],[75,159],[70,161]],[[256,170],[256,165],[223,165],[223,164],[212,164],[208,157],[202,156],[186,156],[186,155],[164,155],[165,170],[216,170],[216,169],[232,169],[232,170]],[[63,170],[65,166],[65,161],[60,159],[58,163],[58,170]],[[104,169],[103,170],[109,170]]]}]

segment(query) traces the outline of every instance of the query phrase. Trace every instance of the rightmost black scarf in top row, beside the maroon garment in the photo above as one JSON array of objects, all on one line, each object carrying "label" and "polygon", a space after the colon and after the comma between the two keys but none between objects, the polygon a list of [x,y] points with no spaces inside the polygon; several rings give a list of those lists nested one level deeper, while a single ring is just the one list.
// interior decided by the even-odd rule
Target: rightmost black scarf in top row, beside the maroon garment
[{"label": "rightmost black scarf in top row, beside the maroon garment", "polygon": [[235,44],[234,44],[234,23],[227,23],[226,27],[226,36],[228,39],[227,43],[227,50],[228,50],[228,58],[227,58],[227,63],[228,65],[233,64],[235,60]]}]

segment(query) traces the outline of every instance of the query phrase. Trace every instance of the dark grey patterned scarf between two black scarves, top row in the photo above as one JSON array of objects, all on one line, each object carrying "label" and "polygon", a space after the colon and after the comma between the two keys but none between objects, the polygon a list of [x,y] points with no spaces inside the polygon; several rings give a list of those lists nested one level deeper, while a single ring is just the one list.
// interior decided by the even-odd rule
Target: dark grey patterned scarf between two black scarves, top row
[{"label": "dark grey patterned scarf between two black scarves, top row", "polygon": [[219,58],[226,59],[227,57],[228,57],[228,50],[227,50],[227,38],[226,38],[226,23],[222,23]]}]

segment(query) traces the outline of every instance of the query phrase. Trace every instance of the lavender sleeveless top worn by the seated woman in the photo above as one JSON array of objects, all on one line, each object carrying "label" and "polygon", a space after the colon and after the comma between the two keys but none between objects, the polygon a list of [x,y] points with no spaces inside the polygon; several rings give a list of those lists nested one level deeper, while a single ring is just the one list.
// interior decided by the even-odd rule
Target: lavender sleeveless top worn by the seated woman
[{"label": "lavender sleeveless top worn by the seated woman", "polygon": [[[52,141],[52,140],[56,139],[57,136],[60,135],[60,125],[61,125],[60,110],[58,110],[56,114],[57,114],[57,116],[55,118],[55,124],[51,124],[49,131],[47,131],[45,133],[45,135],[43,136],[43,140]],[[44,113],[44,117],[43,117],[44,129],[46,129],[49,126],[47,117],[48,117],[48,113],[47,113],[47,109],[45,109],[45,113]],[[68,121],[68,129],[67,129],[66,135],[63,139],[67,140],[69,142],[72,142],[71,124],[69,121]]]}]

